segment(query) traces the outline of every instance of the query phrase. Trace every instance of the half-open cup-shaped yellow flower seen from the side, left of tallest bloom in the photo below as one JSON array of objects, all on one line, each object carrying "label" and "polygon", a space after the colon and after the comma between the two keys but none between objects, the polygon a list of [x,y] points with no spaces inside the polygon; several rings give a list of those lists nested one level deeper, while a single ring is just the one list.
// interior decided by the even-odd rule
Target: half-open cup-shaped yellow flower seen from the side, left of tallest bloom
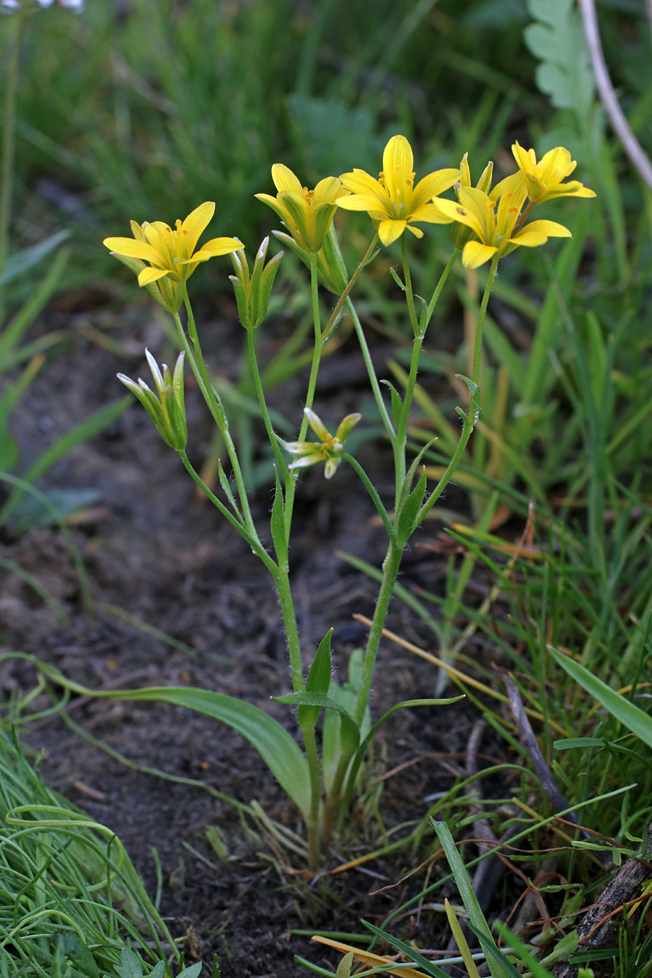
[{"label": "half-open cup-shaped yellow flower seen from the side, left of tallest bloom", "polygon": [[258,200],[276,211],[300,247],[311,254],[321,250],[337,210],[336,200],[347,193],[337,177],[325,177],[314,190],[302,187],[288,166],[274,163],[272,180],[276,197],[256,194]]}]

